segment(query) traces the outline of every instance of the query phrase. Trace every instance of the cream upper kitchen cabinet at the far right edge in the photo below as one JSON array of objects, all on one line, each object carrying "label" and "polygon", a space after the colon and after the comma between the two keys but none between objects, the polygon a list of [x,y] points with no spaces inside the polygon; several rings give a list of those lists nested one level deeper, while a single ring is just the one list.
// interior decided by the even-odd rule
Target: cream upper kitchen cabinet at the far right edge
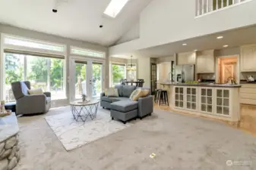
[{"label": "cream upper kitchen cabinet at the far right edge", "polygon": [[241,48],[241,72],[256,72],[256,45]]}]

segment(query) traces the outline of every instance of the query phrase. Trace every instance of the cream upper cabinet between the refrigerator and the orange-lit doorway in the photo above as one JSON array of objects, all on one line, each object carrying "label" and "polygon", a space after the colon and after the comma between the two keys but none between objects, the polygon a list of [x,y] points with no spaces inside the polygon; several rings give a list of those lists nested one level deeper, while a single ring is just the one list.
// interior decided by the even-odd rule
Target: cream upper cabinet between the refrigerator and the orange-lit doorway
[{"label": "cream upper cabinet between the refrigerator and the orange-lit doorway", "polygon": [[214,51],[198,52],[197,73],[214,73]]}]

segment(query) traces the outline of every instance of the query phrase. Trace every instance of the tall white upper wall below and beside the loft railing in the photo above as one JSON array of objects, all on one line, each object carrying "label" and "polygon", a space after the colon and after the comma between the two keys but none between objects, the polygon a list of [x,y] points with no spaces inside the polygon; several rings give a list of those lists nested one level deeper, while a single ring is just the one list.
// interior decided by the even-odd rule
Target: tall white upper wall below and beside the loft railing
[{"label": "tall white upper wall below and beside the loft railing", "polygon": [[141,12],[140,39],[115,45],[110,54],[191,39],[256,23],[256,1],[195,17],[195,0],[153,0]]}]

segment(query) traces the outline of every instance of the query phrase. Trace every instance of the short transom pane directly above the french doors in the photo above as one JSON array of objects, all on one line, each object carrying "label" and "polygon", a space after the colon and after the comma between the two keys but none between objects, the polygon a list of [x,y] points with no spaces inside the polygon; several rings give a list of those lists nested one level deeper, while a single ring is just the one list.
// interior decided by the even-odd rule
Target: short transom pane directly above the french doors
[{"label": "short transom pane directly above the french doors", "polygon": [[86,48],[76,48],[71,47],[71,54],[78,54],[78,55],[84,55],[84,56],[90,56],[90,57],[105,57],[105,53],[102,51],[93,51]]}]

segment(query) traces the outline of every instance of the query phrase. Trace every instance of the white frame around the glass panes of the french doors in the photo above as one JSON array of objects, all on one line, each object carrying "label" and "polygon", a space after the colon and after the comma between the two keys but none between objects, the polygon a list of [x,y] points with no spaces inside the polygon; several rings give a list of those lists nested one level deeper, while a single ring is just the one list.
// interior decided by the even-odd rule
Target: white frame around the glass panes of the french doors
[{"label": "white frame around the glass panes of the french doors", "polygon": [[[86,61],[87,62],[87,96],[88,97],[92,97],[92,84],[91,81],[93,79],[93,62],[96,63],[102,63],[103,67],[102,67],[102,82],[101,82],[101,87],[102,90],[105,89],[105,77],[106,77],[106,72],[105,70],[105,66],[106,66],[106,60],[105,59],[97,59],[97,58],[93,58],[93,57],[81,57],[81,56],[76,56],[76,55],[72,55],[70,57],[70,61],[69,61],[69,100],[75,100],[75,60],[81,60],[81,61]],[[89,93],[89,94],[88,94]]]}]

